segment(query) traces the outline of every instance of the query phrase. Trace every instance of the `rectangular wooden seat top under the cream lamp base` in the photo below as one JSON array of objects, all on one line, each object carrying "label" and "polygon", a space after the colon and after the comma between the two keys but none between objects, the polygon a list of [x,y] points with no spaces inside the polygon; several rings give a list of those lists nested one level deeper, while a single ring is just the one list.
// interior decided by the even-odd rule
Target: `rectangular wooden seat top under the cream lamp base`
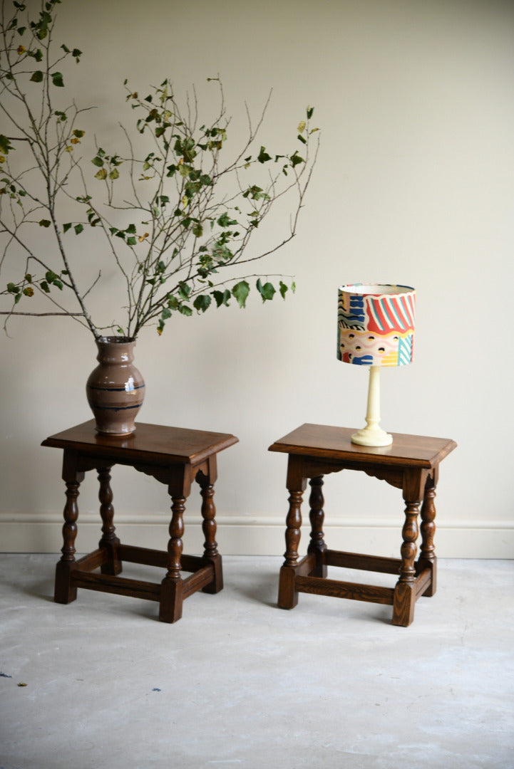
[{"label": "rectangular wooden seat top under the cream lamp base", "polygon": [[346,464],[429,469],[436,467],[457,447],[449,438],[402,433],[392,433],[389,446],[360,446],[352,443],[352,434],[358,429],[305,423],[275,441],[269,451],[339,460]]}]

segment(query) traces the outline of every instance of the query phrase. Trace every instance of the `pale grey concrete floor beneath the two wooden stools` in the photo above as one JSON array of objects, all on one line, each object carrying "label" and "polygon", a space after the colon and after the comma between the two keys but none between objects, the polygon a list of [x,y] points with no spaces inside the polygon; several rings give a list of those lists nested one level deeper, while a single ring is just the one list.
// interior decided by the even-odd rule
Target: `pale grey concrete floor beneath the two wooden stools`
[{"label": "pale grey concrete floor beneath the two wooden stools", "polygon": [[279,610],[280,558],[224,558],[173,625],[53,603],[55,561],[0,558],[0,769],[514,767],[514,561],[439,561],[410,628],[323,596]]}]

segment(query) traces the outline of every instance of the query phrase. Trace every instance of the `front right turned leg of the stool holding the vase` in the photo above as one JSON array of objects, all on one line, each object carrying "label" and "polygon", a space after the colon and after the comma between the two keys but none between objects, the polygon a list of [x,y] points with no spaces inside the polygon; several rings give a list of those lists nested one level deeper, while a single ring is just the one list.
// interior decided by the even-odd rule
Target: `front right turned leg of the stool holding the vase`
[{"label": "front right turned leg of the stool holding the vase", "polygon": [[172,521],[169,524],[168,573],[161,583],[159,620],[176,622],[182,617],[182,578],[180,558],[182,556],[182,534],[184,534],[185,498],[172,498]]}]

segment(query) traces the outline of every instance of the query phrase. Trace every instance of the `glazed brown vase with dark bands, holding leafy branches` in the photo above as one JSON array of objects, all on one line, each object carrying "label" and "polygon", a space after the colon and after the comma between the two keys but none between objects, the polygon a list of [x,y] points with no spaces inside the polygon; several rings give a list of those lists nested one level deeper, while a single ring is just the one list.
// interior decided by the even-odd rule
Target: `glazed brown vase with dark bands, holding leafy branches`
[{"label": "glazed brown vase with dark bands, holding leafy branches", "polygon": [[129,435],[135,431],[134,420],[145,397],[145,382],[132,363],[135,339],[101,337],[96,345],[98,366],[86,384],[96,430],[106,435]]}]

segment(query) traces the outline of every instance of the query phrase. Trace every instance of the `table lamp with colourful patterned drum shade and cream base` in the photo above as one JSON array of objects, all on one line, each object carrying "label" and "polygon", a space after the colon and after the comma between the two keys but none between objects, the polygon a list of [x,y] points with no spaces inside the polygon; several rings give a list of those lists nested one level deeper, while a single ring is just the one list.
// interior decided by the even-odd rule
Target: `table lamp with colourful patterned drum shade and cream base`
[{"label": "table lamp with colourful patterned drum shade and cream base", "polygon": [[389,446],[392,435],[380,424],[380,368],[412,361],[416,291],[410,286],[363,285],[339,288],[337,357],[369,366],[366,426],[352,435],[361,446]]}]

